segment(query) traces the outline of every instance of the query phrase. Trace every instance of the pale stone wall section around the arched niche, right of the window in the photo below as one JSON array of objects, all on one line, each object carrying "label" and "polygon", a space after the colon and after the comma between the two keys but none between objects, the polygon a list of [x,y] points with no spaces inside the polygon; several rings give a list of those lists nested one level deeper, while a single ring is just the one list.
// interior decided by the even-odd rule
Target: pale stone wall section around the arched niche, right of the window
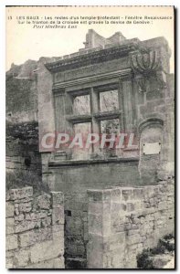
[{"label": "pale stone wall section around the arched niche, right of the window", "polygon": [[[159,164],[175,173],[175,82],[167,75],[163,90],[136,92],[136,119],[140,133],[140,174],[144,184],[153,183]],[[160,154],[144,155],[144,142],[160,142]],[[167,164],[168,163],[168,164]]]}]

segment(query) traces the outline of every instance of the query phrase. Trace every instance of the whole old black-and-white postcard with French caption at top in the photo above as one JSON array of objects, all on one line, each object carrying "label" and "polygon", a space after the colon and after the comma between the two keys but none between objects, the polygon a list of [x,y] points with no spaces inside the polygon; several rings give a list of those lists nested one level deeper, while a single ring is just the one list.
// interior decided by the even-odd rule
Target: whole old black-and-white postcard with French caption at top
[{"label": "whole old black-and-white postcard with French caption at top", "polygon": [[6,6],[6,268],[175,269],[174,6]]}]

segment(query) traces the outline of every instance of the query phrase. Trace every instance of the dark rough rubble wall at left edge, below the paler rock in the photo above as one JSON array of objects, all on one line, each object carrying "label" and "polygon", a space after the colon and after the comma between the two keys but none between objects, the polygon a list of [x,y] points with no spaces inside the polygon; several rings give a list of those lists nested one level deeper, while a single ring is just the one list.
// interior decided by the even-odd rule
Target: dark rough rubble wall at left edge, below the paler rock
[{"label": "dark rough rubble wall at left edge, below the paler rock", "polygon": [[32,171],[41,175],[41,155],[38,152],[36,121],[12,123],[6,121],[6,172]]}]

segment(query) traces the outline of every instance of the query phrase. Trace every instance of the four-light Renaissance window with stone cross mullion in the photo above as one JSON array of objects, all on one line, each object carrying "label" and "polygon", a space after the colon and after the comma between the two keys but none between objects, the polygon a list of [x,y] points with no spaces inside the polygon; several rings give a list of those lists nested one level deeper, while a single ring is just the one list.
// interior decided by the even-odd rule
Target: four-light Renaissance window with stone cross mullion
[{"label": "four-light Renaissance window with stone cross mullion", "polygon": [[[122,131],[122,92],[118,83],[103,86],[94,86],[85,90],[69,90],[68,101],[71,102],[71,113],[67,113],[66,119],[74,135],[82,134],[82,142],[86,142],[89,133],[99,135],[98,143],[90,143],[88,149],[76,148],[72,150],[72,159],[85,160],[91,157],[101,157],[103,149],[100,145],[101,134],[106,133],[107,138],[112,133],[115,136]],[[108,142],[107,142],[108,144]],[[114,150],[114,147],[112,147]],[[115,152],[117,155],[117,153]]]}]

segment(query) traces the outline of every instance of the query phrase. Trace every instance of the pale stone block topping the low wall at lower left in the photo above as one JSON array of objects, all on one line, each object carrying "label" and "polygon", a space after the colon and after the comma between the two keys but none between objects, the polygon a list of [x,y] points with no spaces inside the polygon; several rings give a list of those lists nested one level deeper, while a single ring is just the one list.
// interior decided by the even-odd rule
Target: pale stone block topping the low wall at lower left
[{"label": "pale stone block topping the low wall at lower left", "polygon": [[9,191],[10,200],[20,200],[23,198],[31,197],[33,195],[33,187],[27,186],[19,189],[11,189]]}]

